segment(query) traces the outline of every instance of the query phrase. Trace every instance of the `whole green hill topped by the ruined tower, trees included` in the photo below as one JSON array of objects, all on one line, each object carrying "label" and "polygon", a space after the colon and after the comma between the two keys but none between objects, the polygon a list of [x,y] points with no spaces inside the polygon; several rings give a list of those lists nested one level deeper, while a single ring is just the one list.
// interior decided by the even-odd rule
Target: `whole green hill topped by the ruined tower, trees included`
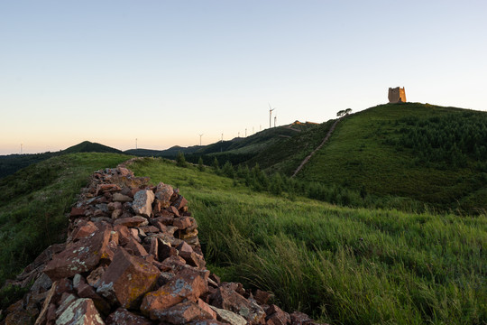
[{"label": "whole green hill topped by the ruined tower, trees included", "polygon": [[298,175],[437,207],[487,209],[487,113],[422,104],[345,118]]}]

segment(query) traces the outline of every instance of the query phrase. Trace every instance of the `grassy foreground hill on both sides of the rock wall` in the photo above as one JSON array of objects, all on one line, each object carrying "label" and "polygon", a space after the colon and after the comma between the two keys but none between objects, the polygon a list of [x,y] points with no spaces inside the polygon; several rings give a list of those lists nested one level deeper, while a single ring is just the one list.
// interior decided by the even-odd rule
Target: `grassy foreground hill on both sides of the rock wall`
[{"label": "grassy foreground hill on both sides of the rock wall", "polygon": [[[1,180],[0,279],[62,239],[63,213],[90,172],[127,158],[68,154]],[[299,192],[259,192],[210,168],[161,159],[145,158],[131,169],[179,187],[212,271],[273,292],[289,311],[330,324],[487,320],[485,214],[339,207]],[[13,292],[0,298],[11,301]]]}]

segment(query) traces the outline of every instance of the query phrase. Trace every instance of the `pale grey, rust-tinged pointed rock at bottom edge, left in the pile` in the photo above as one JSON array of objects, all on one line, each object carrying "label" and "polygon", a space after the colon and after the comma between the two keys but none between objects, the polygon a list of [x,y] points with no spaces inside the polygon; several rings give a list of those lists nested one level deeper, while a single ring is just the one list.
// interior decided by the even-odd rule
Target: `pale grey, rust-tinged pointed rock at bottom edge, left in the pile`
[{"label": "pale grey, rust-tinged pointed rock at bottom edge, left in the pile", "polygon": [[69,304],[68,308],[63,311],[56,325],[104,325],[105,322],[96,311],[95,304],[91,299],[79,298]]}]

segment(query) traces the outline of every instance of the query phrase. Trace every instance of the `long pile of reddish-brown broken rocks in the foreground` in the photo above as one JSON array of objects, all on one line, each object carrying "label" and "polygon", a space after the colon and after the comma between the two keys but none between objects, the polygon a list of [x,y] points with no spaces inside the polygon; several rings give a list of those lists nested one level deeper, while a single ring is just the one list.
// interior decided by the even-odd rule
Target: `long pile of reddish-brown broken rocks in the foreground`
[{"label": "long pile of reddish-brown broken rocks in the foreground", "polygon": [[220,283],[187,200],[149,181],[121,166],[95,172],[69,214],[66,243],[17,277],[34,283],[0,325],[314,323],[267,304],[268,292]]}]

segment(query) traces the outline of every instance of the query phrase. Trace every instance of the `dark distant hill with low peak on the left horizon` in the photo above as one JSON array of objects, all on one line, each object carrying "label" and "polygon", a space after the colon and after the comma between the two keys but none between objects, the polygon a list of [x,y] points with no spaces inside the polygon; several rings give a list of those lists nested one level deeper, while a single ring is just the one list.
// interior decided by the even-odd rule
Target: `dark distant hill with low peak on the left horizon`
[{"label": "dark distant hill with low peak on the left horizon", "polygon": [[65,150],[55,153],[33,153],[33,154],[8,154],[0,156],[0,178],[11,175],[18,170],[25,168],[32,163],[40,163],[54,156],[66,153],[122,153],[120,150],[103,145],[84,141],[80,144],[70,146]]}]

